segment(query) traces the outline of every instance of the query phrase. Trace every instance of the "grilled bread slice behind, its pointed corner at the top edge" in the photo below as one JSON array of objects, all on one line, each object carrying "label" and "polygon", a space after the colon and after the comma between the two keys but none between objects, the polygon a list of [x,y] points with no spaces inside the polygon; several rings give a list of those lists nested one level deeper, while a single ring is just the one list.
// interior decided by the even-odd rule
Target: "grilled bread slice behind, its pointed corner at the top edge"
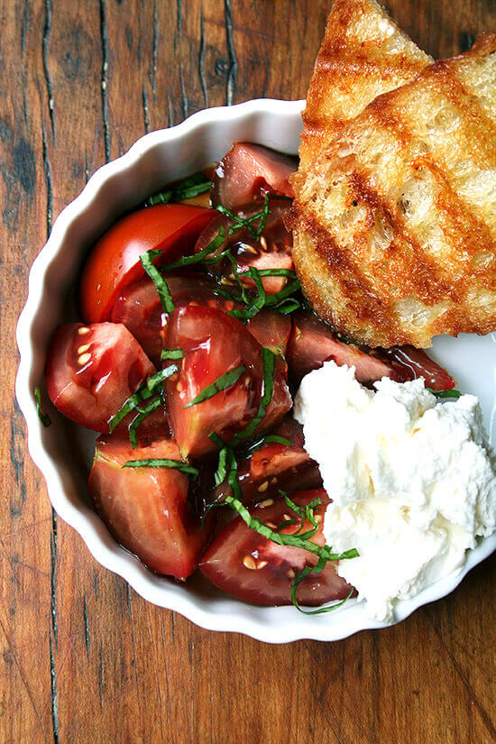
[{"label": "grilled bread slice behind, its pointed corner at the top edge", "polygon": [[335,0],[308,88],[295,183],[305,178],[336,125],[431,61],[375,0]]}]

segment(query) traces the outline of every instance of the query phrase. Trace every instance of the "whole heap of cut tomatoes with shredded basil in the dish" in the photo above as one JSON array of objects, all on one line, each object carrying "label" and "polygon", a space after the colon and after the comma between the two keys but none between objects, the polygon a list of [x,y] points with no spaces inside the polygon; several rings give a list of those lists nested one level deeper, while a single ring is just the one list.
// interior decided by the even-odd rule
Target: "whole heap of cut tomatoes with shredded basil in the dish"
[{"label": "whole heap of cut tomatoes with shredded basil in the dish", "polygon": [[355,553],[324,541],[329,499],[291,417],[299,381],[329,359],[368,385],[455,381],[418,349],[351,343],[308,307],[285,228],[296,168],[238,142],[213,173],[111,227],[46,381],[62,413],[99,432],[95,509],[152,571],[186,580],[199,568],[246,602],[335,607],[354,592],[335,562]]}]

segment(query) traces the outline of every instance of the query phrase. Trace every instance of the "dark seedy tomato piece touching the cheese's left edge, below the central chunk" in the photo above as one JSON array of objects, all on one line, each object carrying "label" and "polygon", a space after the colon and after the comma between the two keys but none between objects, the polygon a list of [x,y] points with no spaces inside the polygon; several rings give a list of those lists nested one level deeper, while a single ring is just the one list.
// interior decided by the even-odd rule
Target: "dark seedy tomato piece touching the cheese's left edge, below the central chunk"
[{"label": "dark seedy tomato piece touching the cheese's left edge, below the central chunk", "polygon": [[[315,460],[304,449],[303,427],[287,416],[272,434],[288,439],[290,445],[267,442],[238,461],[238,478],[243,503],[254,504],[268,498],[279,498],[280,490],[306,491],[322,487]],[[222,501],[231,489],[226,482],[214,492],[214,501]]]}]

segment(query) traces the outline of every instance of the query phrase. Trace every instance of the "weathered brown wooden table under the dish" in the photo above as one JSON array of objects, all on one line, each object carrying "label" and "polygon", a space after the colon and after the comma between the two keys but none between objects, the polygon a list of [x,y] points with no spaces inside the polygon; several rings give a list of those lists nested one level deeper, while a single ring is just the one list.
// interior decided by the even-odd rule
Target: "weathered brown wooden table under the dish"
[{"label": "weathered brown wooden table under the dish", "polygon": [[[266,646],[196,628],[51,511],[13,400],[14,328],[53,219],[102,163],[205,106],[300,98],[330,0],[0,4],[0,744],[490,744],[494,558],[399,627]],[[494,0],[390,0],[434,56]]]}]

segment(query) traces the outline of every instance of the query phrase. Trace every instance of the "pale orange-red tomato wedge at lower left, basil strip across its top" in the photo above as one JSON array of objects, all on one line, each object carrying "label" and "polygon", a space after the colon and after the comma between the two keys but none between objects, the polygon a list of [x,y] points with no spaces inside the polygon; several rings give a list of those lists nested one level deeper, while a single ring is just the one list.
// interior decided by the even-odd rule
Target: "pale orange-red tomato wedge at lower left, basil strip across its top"
[{"label": "pale orange-red tomato wedge at lower left, basil strip across its top", "polygon": [[161,439],[132,449],[116,436],[101,436],[89,474],[95,509],[115,539],[158,574],[186,579],[197,567],[208,528],[188,501],[189,480],[168,467],[126,467],[129,460],[180,460],[178,446]]}]

